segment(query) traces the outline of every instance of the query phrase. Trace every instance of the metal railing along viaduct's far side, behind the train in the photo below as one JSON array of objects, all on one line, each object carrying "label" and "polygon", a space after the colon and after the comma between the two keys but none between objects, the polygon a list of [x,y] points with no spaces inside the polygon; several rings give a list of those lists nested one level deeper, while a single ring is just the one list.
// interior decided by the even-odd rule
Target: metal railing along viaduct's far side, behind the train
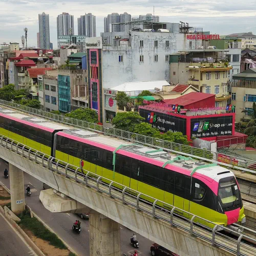
[{"label": "metal railing along viaduct's far side, behind the train", "polygon": [[[14,108],[15,110],[21,110],[21,111],[28,112],[29,114],[45,117],[47,119],[50,119],[56,122],[65,123],[65,124],[77,126],[81,129],[98,132],[106,136],[112,136],[112,137],[120,138],[120,139],[131,141],[131,142],[141,143],[143,145],[148,145],[152,147],[163,148],[165,151],[169,151],[175,154],[190,156],[190,157],[201,159],[204,161],[228,166],[228,167],[231,167],[232,169],[243,170],[245,172],[256,174],[256,161],[244,159],[243,157],[236,157],[236,159],[238,160],[238,163],[237,165],[233,165],[232,161],[230,161],[230,163],[218,161],[218,155],[219,155],[218,153],[211,152],[208,150],[201,150],[201,148],[183,145],[183,144],[170,142],[166,140],[161,140],[158,138],[153,138],[153,137],[140,135],[136,133],[131,133],[131,132],[115,129],[112,127],[105,127],[96,123],[90,123],[90,122],[82,121],[79,119],[65,117],[62,115],[56,115],[50,112],[33,109],[28,106],[20,105],[14,102],[6,101],[6,100],[0,100],[0,104],[9,106],[10,108]],[[223,156],[224,154],[221,154],[221,155]],[[233,156],[230,156],[230,155],[224,155],[224,156],[229,159],[234,158]]]}]

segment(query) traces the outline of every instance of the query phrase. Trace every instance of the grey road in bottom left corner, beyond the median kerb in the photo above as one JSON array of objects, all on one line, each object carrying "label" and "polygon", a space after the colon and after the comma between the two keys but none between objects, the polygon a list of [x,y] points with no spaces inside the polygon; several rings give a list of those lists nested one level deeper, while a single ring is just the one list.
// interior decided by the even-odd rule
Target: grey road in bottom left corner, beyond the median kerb
[{"label": "grey road in bottom left corner, beyond the median kerb", "polygon": [[34,256],[31,247],[25,242],[20,234],[0,214],[0,255],[1,256]]}]

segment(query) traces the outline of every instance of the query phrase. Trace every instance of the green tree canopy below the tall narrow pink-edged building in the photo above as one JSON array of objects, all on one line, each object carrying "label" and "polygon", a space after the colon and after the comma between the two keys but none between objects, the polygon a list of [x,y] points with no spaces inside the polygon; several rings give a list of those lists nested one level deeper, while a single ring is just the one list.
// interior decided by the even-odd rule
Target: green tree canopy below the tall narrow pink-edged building
[{"label": "green tree canopy below the tall narrow pink-edged building", "polygon": [[87,121],[90,123],[97,123],[98,122],[98,113],[92,109],[76,109],[67,113],[65,116]]}]

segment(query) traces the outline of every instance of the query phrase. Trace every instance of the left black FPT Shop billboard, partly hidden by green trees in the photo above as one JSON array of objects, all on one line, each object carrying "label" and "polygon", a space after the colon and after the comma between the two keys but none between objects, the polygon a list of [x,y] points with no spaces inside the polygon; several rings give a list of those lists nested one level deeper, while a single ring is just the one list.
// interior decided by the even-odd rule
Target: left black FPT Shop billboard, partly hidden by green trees
[{"label": "left black FPT Shop billboard, partly hidden by green trees", "polygon": [[139,109],[139,112],[145,118],[145,122],[150,123],[153,128],[158,129],[162,133],[171,131],[186,134],[185,118],[145,109]]}]

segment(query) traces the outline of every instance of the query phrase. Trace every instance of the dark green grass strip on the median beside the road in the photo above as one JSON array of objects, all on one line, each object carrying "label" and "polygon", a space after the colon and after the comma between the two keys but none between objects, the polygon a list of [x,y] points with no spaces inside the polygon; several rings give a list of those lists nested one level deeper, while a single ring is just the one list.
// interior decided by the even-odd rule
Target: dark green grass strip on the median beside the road
[{"label": "dark green grass strip on the median beside the road", "polygon": [[63,244],[63,242],[56,236],[55,233],[52,233],[36,218],[31,218],[26,210],[18,217],[20,218],[20,222],[18,222],[18,225],[22,228],[30,230],[35,237],[48,241],[50,245],[53,245],[56,248],[68,249],[67,246]]}]

